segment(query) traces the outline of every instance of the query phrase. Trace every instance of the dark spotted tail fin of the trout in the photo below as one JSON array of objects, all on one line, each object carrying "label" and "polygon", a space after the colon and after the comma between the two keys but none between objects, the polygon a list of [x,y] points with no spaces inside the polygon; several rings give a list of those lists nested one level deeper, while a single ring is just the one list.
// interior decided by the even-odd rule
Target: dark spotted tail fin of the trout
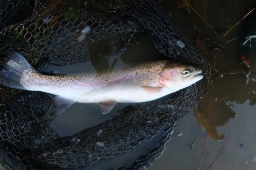
[{"label": "dark spotted tail fin of the trout", "polygon": [[26,72],[26,76],[35,71],[35,69],[30,66],[27,60],[18,52],[9,52],[8,59],[0,70],[0,84],[24,90],[24,86],[20,83],[20,79],[25,76],[23,73]]}]

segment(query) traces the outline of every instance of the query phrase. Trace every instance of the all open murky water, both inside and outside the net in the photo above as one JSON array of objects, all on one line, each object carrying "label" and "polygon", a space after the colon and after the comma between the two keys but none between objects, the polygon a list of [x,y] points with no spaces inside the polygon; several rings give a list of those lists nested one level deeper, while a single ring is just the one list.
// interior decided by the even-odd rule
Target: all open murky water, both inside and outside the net
[{"label": "all open murky water, both inside and outside the net", "polygon": [[[179,2],[182,1],[189,1],[202,17],[205,17],[203,8],[205,3],[206,20],[220,37],[256,5],[255,0],[247,0],[246,3],[241,0],[181,0]],[[223,73],[223,77],[214,74],[215,79],[209,94],[201,100],[197,108],[180,121],[176,135],[171,138],[163,154],[149,167],[149,170],[196,170],[198,168],[201,170],[208,168],[255,170],[256,83],[253,82],[253,78],[256,75],[251,74],[247,79],[246,74],[249,69],[241,63],[239,49],[244,41],[244,35],[252,30],[256,33],[255,25],[255,27],[247,25],[251,19],[255,18],[256,11],[224,38],[219,38],[192,8],[188,11],[183,3],[177,5],[177,0],[162,0],[160,4],[163,5],[174,24],[209,60],[212,67]],[[110,56],[103,61],[97,61],[93,67],[91,62],[84,62],[74,66],[49,66],[47,70],[58,69],[63,73],[99,71],[110,68],[115,60],[117,63],[114,69],[137,62],[137,56],[140,61],[159,58],[160,54],[148,38],[147,35],[136,36],[127,51]],[[229,41],[233,38],[236,39]],[[247,50],[244,52],[250,60],[250,69],[256,72],[256,47],[253,46],[250,53]],[[52,127],[61,136],[73,135],[86,127],[110,119],[124,106],[126,104],[118,104],[109,114],[102,115],[99,105],[76,103],[69,110],[58,115],[52,122]],[[71,115],[73,120],[70,119]],[[179,133],[183,135],[178,136]],[[126,160],[119,159],[116,162],[122,166]],[[108,166],[95,168],[104,169]]]}]

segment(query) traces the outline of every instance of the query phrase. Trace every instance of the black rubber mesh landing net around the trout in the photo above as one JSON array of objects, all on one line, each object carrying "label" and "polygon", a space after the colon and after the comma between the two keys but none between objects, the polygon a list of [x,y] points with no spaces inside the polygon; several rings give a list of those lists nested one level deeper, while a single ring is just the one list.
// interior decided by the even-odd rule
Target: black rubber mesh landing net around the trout
[{"label": "black rubber mesh landing net around the trout", "polygon": [[118,116],[66,137],[49,126],[56,115],[50,113],[48,95],[0,86],[0,163],[6,169],[83,169],[127,155],[162,132],[155,147],[119,168],[145,169],[211,86],[210,65],[155,0],[0,0],[0,66],[12,50],[39,71],[45,63],[99,59],[104,56],[91,56],[91,51],[109,50],[99,43],[126,42],[112,48],[118,53],[134,34],[146,31],[166,58],[201,68],[203,80],[157,101],[126,107]]}]

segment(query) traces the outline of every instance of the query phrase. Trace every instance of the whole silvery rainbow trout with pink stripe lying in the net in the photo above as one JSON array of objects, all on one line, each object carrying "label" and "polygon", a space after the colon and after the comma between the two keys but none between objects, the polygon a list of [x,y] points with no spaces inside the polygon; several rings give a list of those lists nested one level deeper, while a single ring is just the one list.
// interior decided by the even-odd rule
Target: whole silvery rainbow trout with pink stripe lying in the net
[{"label": "whole silvery rainbow trout with pink stripe lying in the net", "polygon": [[201,72],[190,65],[157,60],[104,74],[49,76],[37,72],[21,54],[9,52],[0,70],[0,84],[55,94],[56,114],[75,102],[100,103],[105,114],[117,102],[148,102],[188,87],[203,78]]}]

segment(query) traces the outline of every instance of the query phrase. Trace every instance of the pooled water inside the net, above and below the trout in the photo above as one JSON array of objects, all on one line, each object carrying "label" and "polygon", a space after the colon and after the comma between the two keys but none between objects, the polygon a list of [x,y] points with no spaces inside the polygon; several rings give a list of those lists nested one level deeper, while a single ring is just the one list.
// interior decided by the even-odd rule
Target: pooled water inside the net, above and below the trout
[{"label": "pooled water inside the net, above and below the trout", "polygon": [[[127,42],[130,42],[129,46],[127,46],[127,50],[120,51],[120,49],[127,45]],[[132,67],[142,61],[159,59],[162,56],[162,54],[154,48],[151,37],[147,33],[136,35],[130,40],[128,38],[125,40],[124,37],[117,36],[102,42],[89,44],[83,48],[88,49],[88,54],[90,54],[88,61],[83,62],[84,58],[79,60],[71,57],[70,59],[73,61],[73,64],[64,64],[63,61],[68,60],[61,58],[61,55],[59,56],[61,62],[56,63],[57,61],[55,61],[55,63],[53,63],[55,65],[51,65],[50,63],[46,68],[46,72],[57,71],[62,74],[74,74],[92,71],[100,73]],[[69,51],[70,54],[75,52],[76,49]],[[66,57],[66,59],[68,58]],[[102,115],[99,104],[75,103],[71,108],[58,115],[50,126],[55,129],[60,136],[71,136],[87,127],[93,127],[113,118],[117,115],[118,110],[122,110],[126,106],[134,105],[135,103],[118,103],[110,113]],[[71,116],[73,119],[70,119]]]}]

